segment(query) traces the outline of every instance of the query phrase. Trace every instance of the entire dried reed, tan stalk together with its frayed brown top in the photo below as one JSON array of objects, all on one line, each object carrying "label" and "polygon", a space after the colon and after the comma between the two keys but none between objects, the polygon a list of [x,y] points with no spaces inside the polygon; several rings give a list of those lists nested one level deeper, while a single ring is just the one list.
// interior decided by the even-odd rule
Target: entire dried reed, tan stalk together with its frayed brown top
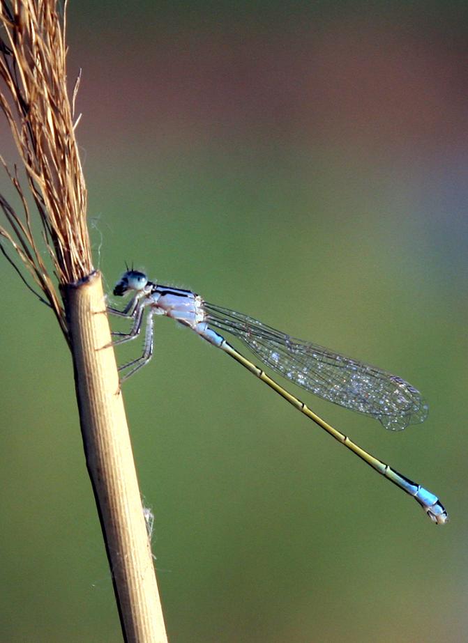
[{"label": "entire dried reed, tan stalk together with its frayed brown top", "polygon": [[[93,271],[86,228],[86,187],[75,139],[74,104],[66,88],[65,10],[57,0],[0,0],[0,107],[10,126],[33,215],[15,166],[8,169],[22,215],[4,196],[0,206],[10,243],[59,321],[73,356],[86,466],[98,505],[126,641],[166,641],[151,548],[119,392],[100,274]],[[59,289],[47,271],[47,247]],[[5,247],[0,249],[16,267]],[[48,263],[48,262],[47,262]],[[27,280],[22,277],[23,281]],[[27,284],[29,288],[29,284]],[[33,288],[31,288],[33,290]],[[36,293],[38,294],[38,293]],[[107,350],[99,350],[107,347]]]}]

